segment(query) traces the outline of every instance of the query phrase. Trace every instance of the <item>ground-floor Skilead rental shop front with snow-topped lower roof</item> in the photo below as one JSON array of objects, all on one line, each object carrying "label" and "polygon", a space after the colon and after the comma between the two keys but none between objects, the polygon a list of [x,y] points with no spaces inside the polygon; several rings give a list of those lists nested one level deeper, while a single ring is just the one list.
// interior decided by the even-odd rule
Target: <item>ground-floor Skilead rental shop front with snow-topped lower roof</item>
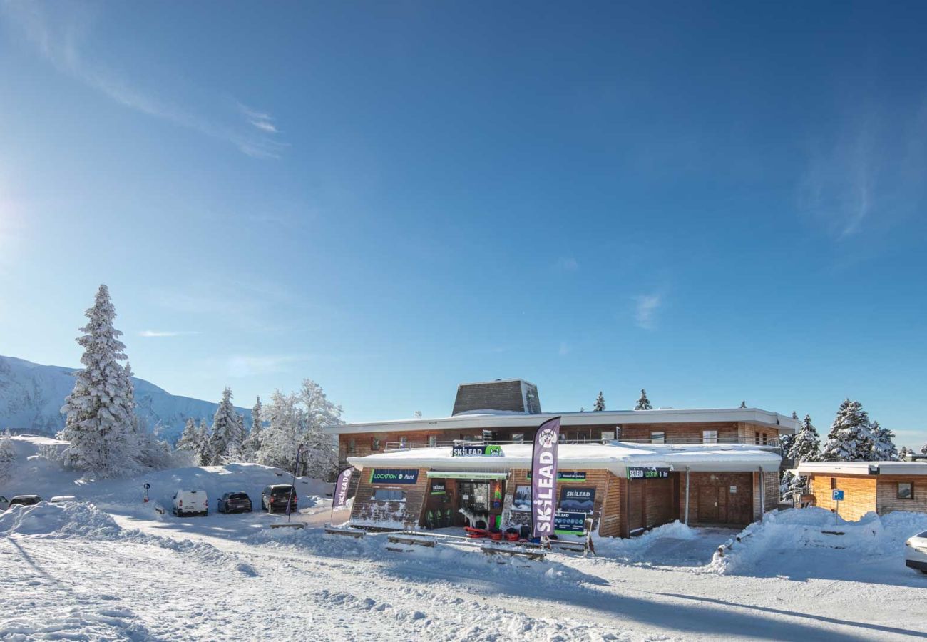
[{"label": "ground-floor Skilead rental shop front with snow-topped lower roof", "polygon": [[[457,443],[349,457],[350,524],[518,531],[531,523],[530,443]],[[560,536],[628,537],[674,520],[743,526],[776,507],[781,456],[745,444],[562,443]]]}]

